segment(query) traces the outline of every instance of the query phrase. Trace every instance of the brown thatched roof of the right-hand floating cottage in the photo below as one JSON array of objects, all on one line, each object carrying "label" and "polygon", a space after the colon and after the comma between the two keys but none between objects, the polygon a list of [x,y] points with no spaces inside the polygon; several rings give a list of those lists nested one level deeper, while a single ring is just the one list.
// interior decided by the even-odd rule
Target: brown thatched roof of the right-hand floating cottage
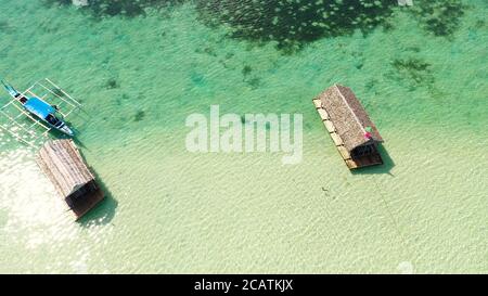
[{"label": "brown thatched roof of the right-hand floating cottage", "polygon": [[[320,99],[322,107],[328,112],[337,134],[349,152],[370,142],[383,142],[376,126],[371,121],[351,89],[334,85],[317,99]],[[368,127],[371,127],[370,139],[365,137]]]}]

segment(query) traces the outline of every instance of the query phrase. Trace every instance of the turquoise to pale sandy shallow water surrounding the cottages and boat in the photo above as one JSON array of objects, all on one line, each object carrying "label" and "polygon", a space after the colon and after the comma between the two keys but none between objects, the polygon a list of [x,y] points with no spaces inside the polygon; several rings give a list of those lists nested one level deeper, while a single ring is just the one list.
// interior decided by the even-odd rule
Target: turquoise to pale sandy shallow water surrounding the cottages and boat
[{"label": "turquoise to pale sandy shallow water surrounding the cottages and boat", "polygon": [[[188,3],[93,20],[2,1],[0,73],[82,101],[90,118],[73,124],[110,197],[73,222],[33,152],[0,136],[0,272],[487,272],[488,8],[465,3],[449,36],[403,9],[390,30],[285,54]],[[378,126],[386,166],[343,164],[311,104],[337,81]],[[187,152],[184,119],[210,104],[303,114],[303,163]]]}]

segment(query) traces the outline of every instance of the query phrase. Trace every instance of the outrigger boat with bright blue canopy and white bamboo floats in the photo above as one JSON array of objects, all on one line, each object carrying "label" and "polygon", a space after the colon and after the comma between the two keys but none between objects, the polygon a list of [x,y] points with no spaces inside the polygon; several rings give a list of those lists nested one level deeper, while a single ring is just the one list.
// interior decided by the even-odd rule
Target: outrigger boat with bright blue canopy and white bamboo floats
[{"label": "outrigger boat with bright blue canopy and white bamboo floats", "polygon": [[[10,94],[11,100],[0,107],[0,115],[9,119],[7,125],[0,125],[0,129],[29,145],[39,138],[34,131],[35,127],[41,127],[44,130],[41,136],[47,136],[52,129],[68,137],[75,136],[74,130],[66,124],[65,118],[75,110],[80,108],[81,104],[51,80],[46,78],[37,81],[24,92],[17,91],[14,87],[3,80],[1,80],[1,83]],[[38,95],[34,92],[36,89],[47,92],[43,95]],[[55,102],[54,100],[57,100],[59,102]],[[50,104],[48,101],[52,103]],[[61,112],[60,106],[62,104],[68,105],[69,111],[67,113]],[[7,112],[11,106],[17,112],[16,115]],[[18,123],[17,119],[22,116],[28,117],[34,124],[26,127],[25,124]],[[27,134],[20,134],[18,131],[23,131]],[[34,141],[28,141],[26,138],[34,138]]]}]

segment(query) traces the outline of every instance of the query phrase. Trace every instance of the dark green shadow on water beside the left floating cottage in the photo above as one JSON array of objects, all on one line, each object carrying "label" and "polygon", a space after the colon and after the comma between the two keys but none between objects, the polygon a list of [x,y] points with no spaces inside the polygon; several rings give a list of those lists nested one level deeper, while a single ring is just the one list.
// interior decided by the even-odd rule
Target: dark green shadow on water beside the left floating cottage
[{"label": "dark green shadow on water beside the left floating cottage", "polygon": [[94,171],[93,168],[90,168],[90,170],[95,177],[97,183],[105,193],[105,198],[77,221],[80,226],[86,228],[108,224],[114,218],[115,209],[118,206],[117,200],[113,197],[111,191],[97,171]]}]

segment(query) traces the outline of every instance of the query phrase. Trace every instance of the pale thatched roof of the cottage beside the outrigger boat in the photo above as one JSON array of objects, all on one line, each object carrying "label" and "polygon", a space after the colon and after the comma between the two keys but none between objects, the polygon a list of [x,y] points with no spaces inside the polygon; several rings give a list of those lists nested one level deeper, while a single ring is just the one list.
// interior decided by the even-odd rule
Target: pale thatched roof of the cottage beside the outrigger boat
[{"label": "pale thatched roof of the cottage beside the outrigger boat", "polygon": [[46,143],[39,151],[38,163],[63,197],[94,180],[70,140]]}]

